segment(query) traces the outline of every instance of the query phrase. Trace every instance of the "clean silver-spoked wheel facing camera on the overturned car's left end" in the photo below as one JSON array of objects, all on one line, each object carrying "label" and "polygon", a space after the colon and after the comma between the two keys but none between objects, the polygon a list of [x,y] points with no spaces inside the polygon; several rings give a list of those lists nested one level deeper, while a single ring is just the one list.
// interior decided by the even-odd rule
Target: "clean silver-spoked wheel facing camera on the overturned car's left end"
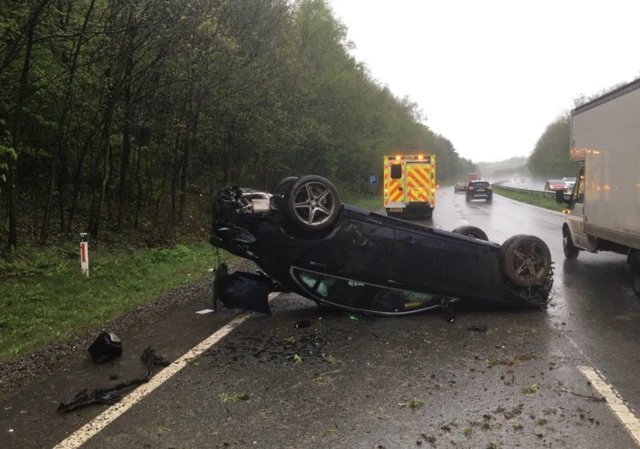
[{"label": "clean silver-spoked wheel facing camera on the overturned car's left end", "polygon": [[338,189],[322,176],[304,176],[291,187],[286,198],[287,217],[306,231],[332,226],[340,212]]}]

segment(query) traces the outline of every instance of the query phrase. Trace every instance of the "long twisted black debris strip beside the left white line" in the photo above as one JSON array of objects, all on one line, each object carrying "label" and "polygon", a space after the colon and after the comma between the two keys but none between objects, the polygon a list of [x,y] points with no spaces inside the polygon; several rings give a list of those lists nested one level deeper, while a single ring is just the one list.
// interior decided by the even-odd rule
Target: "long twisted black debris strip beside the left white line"
[{"label": "long twisted black debris strip beside the left white line", "polygon": [[122,399],[122,395],[120,394],[121,390],[148,382],[151,378],[154,366],[169,365],[169,362],[164,357],[156,355],[155,351],[151,347],[148,347],[142,352],[140,360],[142,360],[147,368],[147,372],[144,377],[127,380],[108,388],[96,388],[91,391],[85,388],[84,390],[76,393],[70,401],[61,402],[58,406],[58,411],[70,412],[92,404],[113,405]]}]

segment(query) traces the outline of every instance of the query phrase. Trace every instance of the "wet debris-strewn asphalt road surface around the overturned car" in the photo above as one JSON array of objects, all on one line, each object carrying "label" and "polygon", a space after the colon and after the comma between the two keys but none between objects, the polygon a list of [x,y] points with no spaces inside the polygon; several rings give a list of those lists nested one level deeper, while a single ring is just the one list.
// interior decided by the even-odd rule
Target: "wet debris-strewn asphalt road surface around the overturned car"
[{"label": "wet debris-strewn asphalt road surface around the overturned car", "polygon": [[[548,310],[464,309],[453,324],[439,312],[352,320],[281,295],[272,316],[250,318],[84,447],[634,448],[605,403],[567,392],[597,395],[577,368],[593,366],[640,407],[640,306],[625,259],[565,261],[561,223],[555,212],[499,196],[466,204],[443,188],[424,224],[479,226],[498,243],[519,233],[547,242],[556,263]],[[115,364],[73,362],[0,402],[0,447],[55,446],[104,410],[58,415],[59,400],[109,385],[110,373],[140,374],[137,355],[148,344],[173,360],[234,315],[196,315],[201,308],[123,335],[125,356]],[[312,326],[295,329],[301,320]],[[467,330],[474,324],[489,331]],[[536,393],[523,393],[534,384]],[[248,399],[220,399],[235,393]]]}]

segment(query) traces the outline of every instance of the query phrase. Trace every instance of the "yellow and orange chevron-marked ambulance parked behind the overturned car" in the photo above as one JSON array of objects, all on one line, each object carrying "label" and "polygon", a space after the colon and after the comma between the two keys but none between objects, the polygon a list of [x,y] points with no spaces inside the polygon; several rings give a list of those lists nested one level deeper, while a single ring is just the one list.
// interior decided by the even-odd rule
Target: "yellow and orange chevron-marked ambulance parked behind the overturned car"
[{"label": "yellow and orange chevron-marked ambulance parked behind the overturned car", "polygon": [[384,207],[387,215],[415,212],[431,218],[436,207],[436,157],[385,156]]}]

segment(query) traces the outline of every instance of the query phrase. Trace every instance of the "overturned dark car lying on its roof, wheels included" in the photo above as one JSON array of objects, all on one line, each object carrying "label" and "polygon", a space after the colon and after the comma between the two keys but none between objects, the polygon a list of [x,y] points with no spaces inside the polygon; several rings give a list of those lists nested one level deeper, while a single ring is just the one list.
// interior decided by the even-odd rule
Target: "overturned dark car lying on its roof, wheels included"
[{"label": "overturned dark car lying on its roof, wheels included", "polygon": [[229,308],[270,313],[268,295],[292,291],[323,306],[401,315],[455,301],[543,307],[553,285],[551,254],[537,237],[491,243],[473,226],[452,232],[342,204],[320,176],[282,180],[273,194],[221,189],[211,244],[255,262],[257,273],[214,280]]}]

